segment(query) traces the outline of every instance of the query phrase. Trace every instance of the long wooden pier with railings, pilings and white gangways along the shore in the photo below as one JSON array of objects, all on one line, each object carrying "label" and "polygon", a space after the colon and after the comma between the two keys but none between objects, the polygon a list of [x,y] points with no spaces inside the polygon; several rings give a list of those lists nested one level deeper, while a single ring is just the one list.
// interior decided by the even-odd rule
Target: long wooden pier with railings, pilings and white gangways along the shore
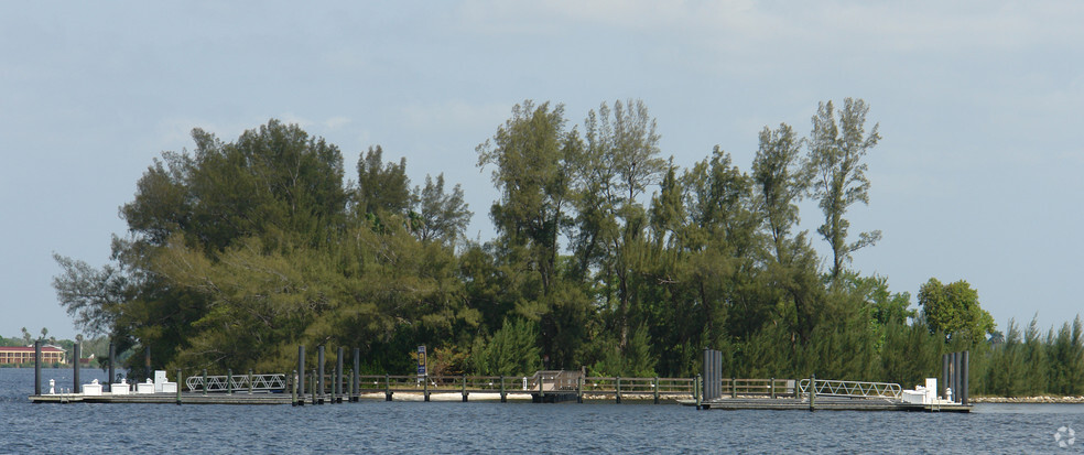
[{"label": "long wooden pier with railings, pilings and white gangways along the shore", "polygon": [[[76,345],[78,349],[78,345]],[[447,376],[360,375],[359,356],[354,349],[354,368],[344,371],[344,348],[336,365],[325,369],[325,350],[317,349],[316,368],[305,371],[304,346],[299,347],[297,366],[290,373],[246,373],[212,376],[200,370],[174,382],[166,371],[155,371],[153,381],[128,383],[79,383],[75,362],[69,392],[41,390],[41,369],[35,368],[35,403],[175,403],[175,404],[291,404],[321,405],[362,400],[383,401],[499,401],[554,402],[651,402],[680,403],[697,410],[826,410],[826,411],[924,411],[971,412],[967,402],[967,353],[946,355],[942,384],[963,393],[953,400],[952,388],[937,387],[936,378],[924,386],[903,390],[897,383],[806,379],[724,378],[722,353],[704,350],[703,375],[695,378],[592,377],[585,371],[544,370],[531,376]],[[424,353],[420,349],[420,353]],[[39,356],[40,357],[40,356]],[[422,357],[423,358],[423,357]],[[150,353],[145,365],[150,370]],[[113,371],[110,364],[109,371]],[[52,381],[51,381],[52,382]],[[52,383],[51,383],[52,386]]]}]

